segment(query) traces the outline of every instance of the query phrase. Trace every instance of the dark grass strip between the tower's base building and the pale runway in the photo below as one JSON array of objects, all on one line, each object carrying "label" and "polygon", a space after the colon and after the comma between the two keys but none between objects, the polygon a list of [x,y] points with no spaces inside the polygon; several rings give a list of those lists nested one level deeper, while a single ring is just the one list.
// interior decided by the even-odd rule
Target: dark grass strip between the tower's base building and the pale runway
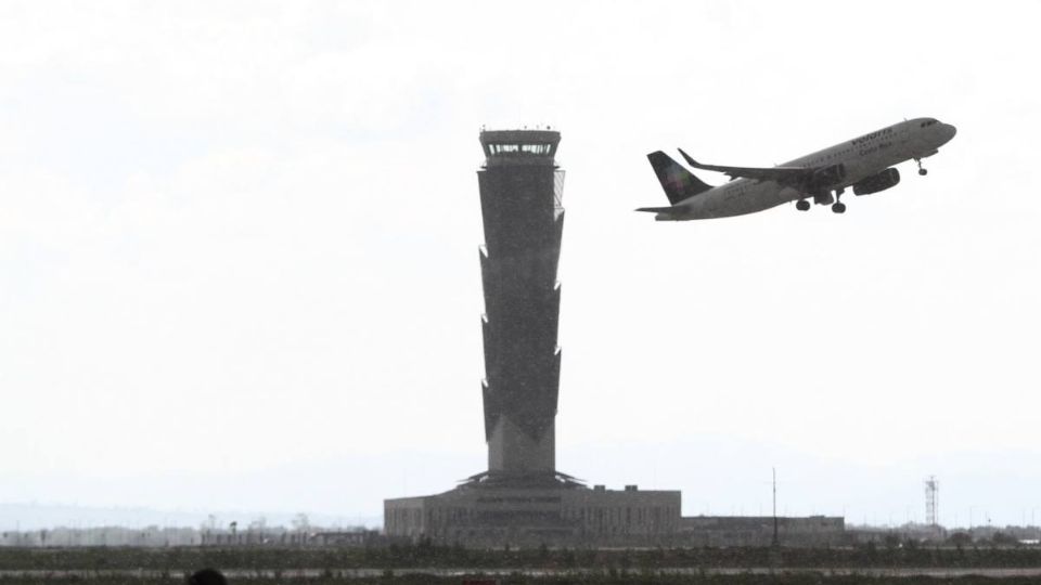
[{"label": "dark grass strip between the tower's base building and the pale runway", "polygon": [[1032,548],[655,548],[475,550],[430,544],[370,548],[174,547],[0,548],[0,571],[224,569],[518,568],[1041,568]]}]

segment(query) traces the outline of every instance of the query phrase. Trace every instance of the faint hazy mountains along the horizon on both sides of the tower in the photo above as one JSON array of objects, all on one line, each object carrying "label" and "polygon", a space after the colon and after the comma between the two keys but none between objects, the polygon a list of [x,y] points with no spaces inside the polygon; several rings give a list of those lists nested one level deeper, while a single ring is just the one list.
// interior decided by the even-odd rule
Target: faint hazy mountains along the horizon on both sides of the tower
[{"label": "faint hazy mountains along the horizon on both sides of the tower", "polygon": [[[895,461],[891,465],[836,465],[834,460],[819,460],[812,454],[785,452],[776,447],[767,446],[768,452],[759,452],[764,445],[740,444],[720,445],[718,437],[698,435],[687,444],[670,445],[668,456],[679,458],[683,452],[693,459],[714,457],[712,463],[704,467],[692,465],[677,465],[673,468],[664,466],[660,445],[652,443],[608,444],[579,448],[564,453],[563,456],[592,461],[587,465],[603,465],[603,460],[612,457],[624,457],[626,460],[642,458],[631,472],[627,470],[612,470],[603,472],[594,483],[603,483],[612,489],[621,489],[624,484],[638,482],[640,489],[645,490],[677,490],[683,492],[684,516],[769,516],[771,514],[771,461],[782,461],[785,465],[777,467],[777,514],[780,516],[845,516],[847,525],[899,526],[905,523],[925,523],[925,478],[914,478],[913,473],[926,466],[922,460]],[[658,447],[658,448],[655,448]],[[478,454],[479,455],[479,454]],[[999,502],[969,504],[958,507],[965,498],[965,493],[986,492],[993,487],[992,476],[1007,477],[1015,474],[1015,461],[1026,461],[1029,452],[1018,454],[1013,463],[1001,465],[995,463],[994,454],[965,453],[950,454],[949,459],[963,458],[963,466],[977,466],[976,473],[954,471],[956,468],[947,465],[933,465],[949,471],[947,480],[940,479],[939,490],[939,519],[940,524],[948,528],[994,526],[1005,525],[1041,525],[1041,508],[1019,507]],[[423,469],[393,477],[409,465],[414,465],[413,458],[423,458],[435,472],[425,477]],[[121,519],[118,523],[127,526],[184,525],[197,526],[209,515],[218,519],[218,525],[227,525],[232,520],[245,525],[257,518],[268,519],[269,525],[287,523],[296,514],[307,514],[314,525],[365,525],[374,528],[382,524],[382,498],[427,495],[449,490],[457,481],[466,474],[483,469],[483,461],[474,454],[470,456],[445,455],[438,453],[402,454],[386,465],[378,466],[372,463],[372,457],[339,458],[323,461],[296,463],[277,466],[270,469],[258,469],[237,474],[234,478],[221,478],[217,474],[169,474],[152,477],[134,481],[132,490],[104,489],[104,480],[86,481],[85,486],[90,492],[104,492],[104,497],[95,497],[91,505],[80,505],[79,502],[56,502],[47,497],[37,502],[0,503],[0,530],[13,530],[15,522],[21,521],[22,529],[53,528],[61,524],[53,520],[40,521],[43,517],[65,518],[64,525],[98,526],[105,525],[113,519]],[[728,463],[733,460],[734,463]],[[748,461],[753,461],[748,465]],[[476,467],[475,467],[476,465]],[[362,468],[365,470],[381,469],[376,477],[371,478],[362,485],[342,483],[344,469]],[[565,472],[575,471],[570,466],[562,465]],[[758,477],[757,477],[758,472]],[[705,474],[707,477],[702,477]],[[902,481],[910,478],[911,481]],[[265,487],[259,494],[243,493],[244,486],[262,484]],[[320,490],[300,487],[304,485],[321,485]],[[689,487],[694,485],[694,487]],[[949,487],[953,485],[953,487]],[[859,486],[859,489],[858,489]],[[213,503],[210,507],[189,505],[183,502],[171,502],[167,505],[128,506],[124,502],[142,500],[143,493],[153,490],[182,490],[183,502],[198,502],[204,496]],[[355,497],[362,500],[375,502],[375,506],[356,510],[340,511],[337,489],[350,491]],[[948,492],[954,493],[948,493]],[[266,493],[265,493],[266,492]],[[41,491],[39,493],[46,493]],[[1029,486],[1017,487],[1003,492],[1013,500],[1029,499],[1032,494]],[[274,505],[271,502],[275,497]],[[278,505],[278,496],[285,500],[295,500],[300,494],[311,498],[311,503],[296,508]],[[699,497],[695,497],[699,496]],[[948,504],[952,499],[955,504]],[[31,509],[23,510],[21,519],[5,509],[4,504],[40,506],[49,511],[33,517]],[[851,510],[865,509],[874,506],[878,511],[854,515]],[[15,506],[17,507],[17,506]],[[67,509],[61,509],[67,508]],[[136,508],[141,508],[136,515]],[[86,511],[85,511],[86,510]],[[333,511],[330,511],[333,510]],[[4,514],[7,512],[7,514]],[[140,516],[140,520],[136,518]],[[157,521],[160,518],[169,522]],[[179,520],[178,520],[179,519]]]}]

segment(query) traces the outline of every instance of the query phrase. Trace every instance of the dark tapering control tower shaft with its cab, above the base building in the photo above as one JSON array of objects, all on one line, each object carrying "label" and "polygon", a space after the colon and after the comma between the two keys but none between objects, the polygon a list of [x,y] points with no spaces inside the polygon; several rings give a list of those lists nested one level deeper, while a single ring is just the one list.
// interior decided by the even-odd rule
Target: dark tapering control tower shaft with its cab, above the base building
[{"label": "dark tapering control tower shaft with its cab, above the base building", "polygon": [[488,470],[494,474],[555,471],[556,270],[564,227],[564,171],[554,162],[560,140],[558,132],[545,130],[480,133],[483,394]]}]

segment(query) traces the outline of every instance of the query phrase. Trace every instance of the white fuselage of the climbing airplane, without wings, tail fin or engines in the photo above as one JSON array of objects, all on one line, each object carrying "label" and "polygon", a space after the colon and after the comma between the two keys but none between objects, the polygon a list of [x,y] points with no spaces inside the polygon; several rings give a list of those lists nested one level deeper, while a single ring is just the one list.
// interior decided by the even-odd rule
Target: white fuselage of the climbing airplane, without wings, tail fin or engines
[{"label": "white fuselage of the climbing airplane, without wings, tail fin or engines", "polygon": [[[894,165],[936,154],[940,146],[954,138],[955,132],[951,125],[933,118],[916,118],[796,158],[782,167],[815,168],[840,164],[845,167],[845,178],[830,188],[841,191]],[[658,212],[655,219],[686,221],[743,216],[812,197],[813,194],[773,180],[735,179],[682,200],[667,211]]]}]

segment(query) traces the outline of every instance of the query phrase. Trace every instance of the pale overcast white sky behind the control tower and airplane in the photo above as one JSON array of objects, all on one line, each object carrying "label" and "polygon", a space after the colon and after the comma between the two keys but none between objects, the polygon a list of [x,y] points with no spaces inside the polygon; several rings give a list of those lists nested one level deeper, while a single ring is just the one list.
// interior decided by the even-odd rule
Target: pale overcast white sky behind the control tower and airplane
[{"label": "pale overcast white sky behind the control tower and airplane", "polygon": [[[0,503],[377,517],[486,468],[481,126],[567,171],[557,461],[684,514],[1041,522],[1041,4],[0,2]],[[644,155],[959,128],[849,210]],[[702,173],[718,184],[725,180]],[[25,519],[26,521],[30,519]]]}]

